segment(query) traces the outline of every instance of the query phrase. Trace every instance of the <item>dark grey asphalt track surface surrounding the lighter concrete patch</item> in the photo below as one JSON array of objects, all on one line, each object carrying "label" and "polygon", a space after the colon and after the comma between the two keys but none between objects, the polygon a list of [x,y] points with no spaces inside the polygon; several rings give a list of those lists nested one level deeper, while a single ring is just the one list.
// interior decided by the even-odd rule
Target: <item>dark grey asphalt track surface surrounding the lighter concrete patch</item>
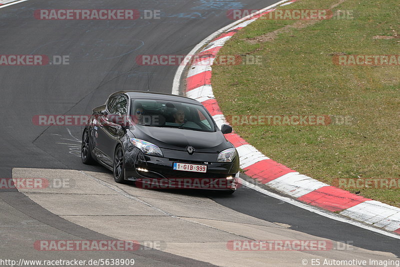
[{"label": "dark grey asphalt track surface surrounding the lighter concrete patch", "polygon": [[[0,67],[0,177],[11,177],[16,167],[109,173],[101,166],[81,163],[77,156],[80,126],[35,126],[32,116],[90,114],[114,91],[146,90],[147,75],[151,91],[170,93],[176,66],[138,66],[137,55],[186,55],[206,36],[232,22],[226,10],[261,9],[274,2],[31,0],[0,9],[0,54],[70,57],[69,65]],[[161,10],[161,16],[133,22],[40,21],[33,18],[37,9]],[[192,193],[299,232],[400,256],[398,239],[330,220],[245,187],[228,197]],[[112,239],[49,212],[16,190],[1,190],[0,207],[1,258],[43,257],[42,251],[32,248],[34,240]],[[75,252],[73,257],[87,259],[98,253]],[[130,252],[101,253],[103,258],[115,258]],[[57,257],[70,254],[58,252]],[[158,250],[135,251],[133,257],[140,265],[208,264]]]}]

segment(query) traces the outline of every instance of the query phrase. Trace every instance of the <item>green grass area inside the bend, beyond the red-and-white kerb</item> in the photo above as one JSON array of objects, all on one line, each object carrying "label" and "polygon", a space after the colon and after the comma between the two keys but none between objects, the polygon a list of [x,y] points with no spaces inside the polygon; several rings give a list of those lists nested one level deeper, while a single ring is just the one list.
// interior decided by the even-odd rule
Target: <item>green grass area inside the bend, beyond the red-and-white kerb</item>
[{"label": "green grass area inside the bend, beyond the red-and-white kerb", "polygon": [[[337,0],[300,0],[285,9],[329,9]],[[327,114],[351,125],[234,126],[263,154],[302,174],[334,178],[400,177],[400,66],[345,67],[332,54],[398,55],[398,0],[347,0],[333,11],[352,20],[324,20],[267,42],[249,39],[295,21],[257,20],[219,55],[251,54],[261,65],[213,66],[211,83],[225,115]],[[360,195],[400,207],[400,189],[361,189]]]}]

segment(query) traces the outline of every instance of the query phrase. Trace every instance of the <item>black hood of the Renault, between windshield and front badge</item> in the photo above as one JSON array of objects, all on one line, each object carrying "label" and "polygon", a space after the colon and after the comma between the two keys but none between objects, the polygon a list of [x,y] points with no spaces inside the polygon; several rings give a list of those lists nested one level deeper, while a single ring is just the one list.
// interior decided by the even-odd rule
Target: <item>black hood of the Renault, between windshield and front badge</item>
[{"label": "black hood of the Renault, between windshield and front badge", "polygon": [[222,132],[200,132],[178,128],[135,125],[130,131],[135,138],[153,143],[159,148],[185,151],[192,146],[195,152],[219,153],[233,147]]}]

